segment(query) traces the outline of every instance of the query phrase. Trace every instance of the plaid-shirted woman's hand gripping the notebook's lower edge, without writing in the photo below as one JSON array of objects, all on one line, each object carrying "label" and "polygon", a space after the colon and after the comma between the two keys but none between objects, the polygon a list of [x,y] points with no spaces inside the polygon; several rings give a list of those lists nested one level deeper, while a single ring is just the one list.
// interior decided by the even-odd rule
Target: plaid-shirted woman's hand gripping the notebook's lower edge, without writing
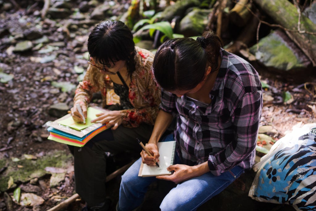
[{"label": "plaid-shirted woman's hand gripping the notebook's lower edge, without writing", "polygon": [[195,177],[193,168],[194,166],[188,166],[188,165],[183,165],[183,164],[170,165],[167,168],[167,170],[174,171],[172,175],[162,175],[162,176],[157,176],[156,178],[172,181],[178,184],[185,180]]}]

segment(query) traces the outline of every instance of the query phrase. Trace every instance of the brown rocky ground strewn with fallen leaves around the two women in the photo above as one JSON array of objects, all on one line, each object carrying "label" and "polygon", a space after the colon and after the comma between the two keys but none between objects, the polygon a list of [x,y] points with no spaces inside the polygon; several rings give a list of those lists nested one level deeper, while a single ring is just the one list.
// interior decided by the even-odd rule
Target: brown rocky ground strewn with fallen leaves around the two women
[{"label": "brown rocky ground strewn with fallen leaves around the two women", "polygon": [[[74,5],[78,7],[77,11],[82,11],[83,17],[72,11],[70,18],[56,20],[40,18],[43,8],[41,1],[31,3],[21,1],[21,6],[17,8],[10,1],[7,3],[0,0],[2,8],[0,11],[0,177],[8,174],[9,166],[7,164],[9,162],[7,161],[16,161],[15,167],[23,168],[15,158],[22,160],[25,159],[24,155],[33,155],[40,162],[41,158],[46,157],[56,156],[57,159],[61,152],[66,159],[70,160],[66,163],[68,166],[62,166],[67,169],[64,179],[54,187],[51,187],[49,183],[54,171],[57,171],[56,169],[47,171],[37,180],[29,180],[24,183],[14,181],[15,185],[10,185],[9,189],[0,193],[0,210],[48,210],[74,194],[70,152],[66,145],[47,140],[48,132],[43,125],[47,121],[55,120],[57,114],[62,115],[72,107],[73,89],[88,66],[85,58],[87,36],[98,21],[91,19],[91,16],[87,18],[87,14],[91,13],[94,7],[93,5],[82,5],[82,2],[71,1],[73,7],[75,7]],[[24,6],[23,3],[25,3]],[[113,1],[113,3],[112,13],[107,18],[126,11],[129,1]],[[50,16],[52,17],[54,14],[52,13]],[[23,45],[17,45],[22,41],[24,41]],[[258,65],[256,68],[262,77],[263,84],[266,85],[261,118],[261,126],[271,127],[266,134],[274,140],[278,140],[295,124],[316,121],[316,79],[314,74],[300,73],[297,76],[285,77],[275,75]],[[58,83],[54,84],[54,82]],[[286,99],[285,102],[284,99]],[[96,97],[94,104],[99,105],[99,103],[100,100]],[[52,106],[57,106],[58,109],[52,109]],[[56,110],[59,110],[59,113],[56,113]],[[59,155],[54,154],[55,152],[58,152]],[[34,160],[36,165],[37,160]],[[38,166],[41,165],[38,164]],[[109,196],[111,196],[113,204],[118,198],[119,178],[115,177],[108,184]],[[233,189],[239,189],[238,185],[249,188],[249,184],[243,180],[234,185]],[[22,193],[32,192],[42,197],[44,203],[26,207],[12,203],[12,207],[8,206],[7,196],[13,196],[15,188],[18,186],[22,187]],[[143,210],[155,209],[153,207],[158,204],[160,198],[153,197],[153,195],[157,194],[157,191],[160,191],[159,194],[163,194],[165,188],[161,187],[165,186],[166,184],[162,182],[151,187],[152,194],[147,196]],[[244,192],[246,192],[245,188]],[[247,196],[244,195],[244,197]],[[225,197],[216,198],[217,202],[222,203],[222,209],[217,203],[212,210],[229,210],[226,208],[227,203],[224,206],[225,201],[221,201],[223,199]],[[235,210],[252,210],[253,208],[256,210],[281,210],[284,208],[247,200],[246,203],[252,203],[248,209],[244,207]],[[66,210],[80,210],[83,206],[84,202],[78,199],[71,203]],[[114,205],[112,209],[114,209]],[[204,206],[200,210],[211,210],[211,208]]]}]

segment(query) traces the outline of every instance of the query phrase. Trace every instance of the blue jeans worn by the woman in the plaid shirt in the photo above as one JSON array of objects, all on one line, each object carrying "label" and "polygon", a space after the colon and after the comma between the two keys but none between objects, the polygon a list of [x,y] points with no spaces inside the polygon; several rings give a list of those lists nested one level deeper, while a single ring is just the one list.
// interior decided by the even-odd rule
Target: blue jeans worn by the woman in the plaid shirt
[{"label": "blue jeans worn by the woman in the plaid shirt", "polygon": [[[138,177],[141,162],[142,159],[139,158],[122,176],[119,190],[119,211],[137,208],[143,202],[148,186],[157,180],[156,177]],[[234,182],[243,172],[242,167],[235,166],[220,176],[214,176],[208,172],[179,183],[165,196],[160,209],[162,211],[196,210]]]}]

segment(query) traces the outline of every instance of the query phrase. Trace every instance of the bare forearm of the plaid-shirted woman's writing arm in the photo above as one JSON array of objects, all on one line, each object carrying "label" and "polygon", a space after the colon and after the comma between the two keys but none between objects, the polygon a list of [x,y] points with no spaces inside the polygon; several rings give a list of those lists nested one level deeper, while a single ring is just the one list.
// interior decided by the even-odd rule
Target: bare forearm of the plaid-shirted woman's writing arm
[{"label": "bare forearm of the plaid-shirted woman's writing arm", "polygon": [[173,116],[163,110],[160,110],[155,121],[155,126],[148,143],[157,144],[163,133],[171,124]]}]

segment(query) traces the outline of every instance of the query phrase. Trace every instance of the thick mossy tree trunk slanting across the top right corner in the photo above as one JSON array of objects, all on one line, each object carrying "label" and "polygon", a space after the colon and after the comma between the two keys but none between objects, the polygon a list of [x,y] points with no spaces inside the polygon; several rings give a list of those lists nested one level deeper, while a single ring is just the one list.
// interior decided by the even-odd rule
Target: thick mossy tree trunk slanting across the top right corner
[{"label": "thick mossy tree trunk slanting across the top right corner", "polygon": [[[316,24],[309,18],[301,15],[300,27],[298,24],[299,12],[288,0],[254,0],[276,23],[281,25],[286,34],[316,66]],[[300,29],[300,30],[298,30]]]}]

